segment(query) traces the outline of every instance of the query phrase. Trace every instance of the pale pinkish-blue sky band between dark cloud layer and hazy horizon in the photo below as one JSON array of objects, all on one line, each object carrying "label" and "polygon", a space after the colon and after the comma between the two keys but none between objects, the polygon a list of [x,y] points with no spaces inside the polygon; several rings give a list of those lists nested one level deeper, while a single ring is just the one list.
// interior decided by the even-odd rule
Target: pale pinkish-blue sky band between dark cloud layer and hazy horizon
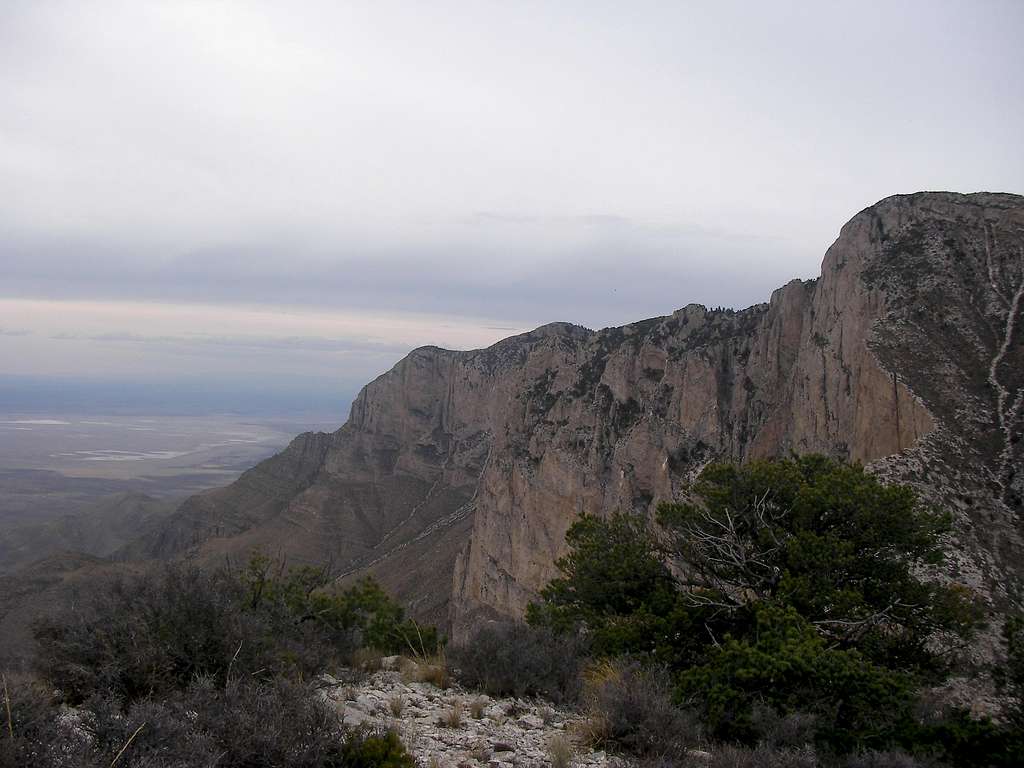
[{"label": "pale pinkish-blue sky band between dark cloud layer and hazy horizon", "polygon": [[148,380],[170,392],[182,378],[354,392],[414,347],[483,347],[526,330],[411,312],[0,298],[7,318],[32,334],[0,336],[2,375]]}]

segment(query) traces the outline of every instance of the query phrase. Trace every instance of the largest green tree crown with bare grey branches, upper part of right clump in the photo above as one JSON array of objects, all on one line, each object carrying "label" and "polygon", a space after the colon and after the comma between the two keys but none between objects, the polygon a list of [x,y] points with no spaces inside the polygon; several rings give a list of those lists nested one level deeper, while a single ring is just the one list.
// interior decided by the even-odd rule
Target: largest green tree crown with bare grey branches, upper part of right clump
[{"label": "largest green tree crown with bare grey branches, upper part of right clump", "polygon": [[694,605],[791,606],[830,645],[936,679],[947,658],[930,641],[966,641],[980,621],[965,588],[916,575],[942,560],[950,517],[859,465],[711,464],[690,493],[692,502],[660,505],[658,520],[675,535]]}]

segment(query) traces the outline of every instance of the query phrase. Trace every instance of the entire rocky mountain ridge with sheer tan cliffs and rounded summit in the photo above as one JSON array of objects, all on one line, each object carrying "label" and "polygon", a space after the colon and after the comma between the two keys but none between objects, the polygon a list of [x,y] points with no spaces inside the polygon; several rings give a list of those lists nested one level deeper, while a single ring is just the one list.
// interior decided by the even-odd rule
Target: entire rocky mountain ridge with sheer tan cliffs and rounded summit
[{"label": "entire rocky mountain ridge with sheer tan cliffs and rounded summit", "polygon": [[953,509],[958,578],[1004,599],[1024,563],[1022,294],[1024,198],[889,198],[768,304],[415,350],[340,430],[140,547],[332,558],[458,634],[521,613],[579,514],[649,515],[713,458],[820,452]]}]

